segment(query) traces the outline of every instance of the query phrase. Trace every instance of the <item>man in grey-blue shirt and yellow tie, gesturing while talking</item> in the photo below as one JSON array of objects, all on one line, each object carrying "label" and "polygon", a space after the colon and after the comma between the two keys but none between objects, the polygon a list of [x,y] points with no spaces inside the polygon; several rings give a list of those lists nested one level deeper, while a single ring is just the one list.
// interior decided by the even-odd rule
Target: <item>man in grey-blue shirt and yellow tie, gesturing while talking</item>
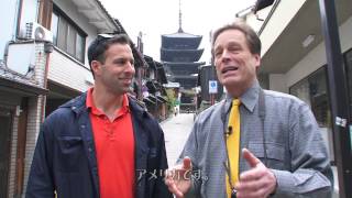
[{"label": "man in grey-blue shirt and yellow tie, gesturing while talking", "polygon": [[177,198],[331,197],[330,160],[310,107],[258,85],[256,33],[241,21],[220,28],[212,57],[228,94],[197,117],[168,189]]}]

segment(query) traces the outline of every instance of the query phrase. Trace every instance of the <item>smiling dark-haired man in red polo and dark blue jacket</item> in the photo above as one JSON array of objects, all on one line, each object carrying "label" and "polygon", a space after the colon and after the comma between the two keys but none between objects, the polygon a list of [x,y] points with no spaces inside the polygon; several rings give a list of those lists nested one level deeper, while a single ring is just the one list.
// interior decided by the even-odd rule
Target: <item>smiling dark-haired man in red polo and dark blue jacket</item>
[{"label": "smiling dark-haired man in red polo and dark blue jacket", "polygon": [[[95,85],[48,116],[38,134],[26,198],[168,198],[164,133],[129,96],[135,74],[125,34],[88,48]],[[56,195],[55,195],[56,194]]]}]

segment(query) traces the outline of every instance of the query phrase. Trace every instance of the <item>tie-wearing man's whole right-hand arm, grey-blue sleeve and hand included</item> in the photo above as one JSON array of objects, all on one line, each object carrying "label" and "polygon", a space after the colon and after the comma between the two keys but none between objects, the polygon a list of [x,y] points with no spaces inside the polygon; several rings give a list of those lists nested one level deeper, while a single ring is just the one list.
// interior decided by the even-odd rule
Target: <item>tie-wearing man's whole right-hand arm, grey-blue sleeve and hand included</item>
[{"label": "tie-wearing man's whole right-hand arm, grey-blue sleeve and hand included", "polygon": [[299,106],[290,117],[285,139],[290,153],[284,162],[286,169],[267,168],[244,148],[242,156],[251,168],[240,175],[234,186],[237,197],[331,197],[329,157],[309,107]]}]

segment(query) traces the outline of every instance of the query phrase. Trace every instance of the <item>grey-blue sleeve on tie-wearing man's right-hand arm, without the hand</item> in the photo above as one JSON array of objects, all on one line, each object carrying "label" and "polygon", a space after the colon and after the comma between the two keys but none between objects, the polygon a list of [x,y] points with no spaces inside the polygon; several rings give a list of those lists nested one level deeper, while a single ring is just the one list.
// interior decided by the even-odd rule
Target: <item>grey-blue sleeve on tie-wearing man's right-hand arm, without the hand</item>
[{"label": "grey-blue sleeve on tie-wearing man's right-hand arm, without the hand", "polygon": [[330,160],[312,112],[301,105],[290,117],[292,172],[272,169],[277,179],[276,195],[331,197]]}]

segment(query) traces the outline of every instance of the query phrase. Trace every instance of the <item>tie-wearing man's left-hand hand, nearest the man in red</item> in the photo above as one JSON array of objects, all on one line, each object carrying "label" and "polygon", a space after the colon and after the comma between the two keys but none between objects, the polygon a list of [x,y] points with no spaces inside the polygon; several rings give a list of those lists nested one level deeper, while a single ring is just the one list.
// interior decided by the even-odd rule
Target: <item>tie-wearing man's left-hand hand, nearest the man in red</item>
[{"label": "tie-wearing man's left-hand hand, nearest the man in red", "polygon": [[166,170],[165,184],[176,198],[184,198],[191,186],[191,162],[185,157],[183,164]]}]

